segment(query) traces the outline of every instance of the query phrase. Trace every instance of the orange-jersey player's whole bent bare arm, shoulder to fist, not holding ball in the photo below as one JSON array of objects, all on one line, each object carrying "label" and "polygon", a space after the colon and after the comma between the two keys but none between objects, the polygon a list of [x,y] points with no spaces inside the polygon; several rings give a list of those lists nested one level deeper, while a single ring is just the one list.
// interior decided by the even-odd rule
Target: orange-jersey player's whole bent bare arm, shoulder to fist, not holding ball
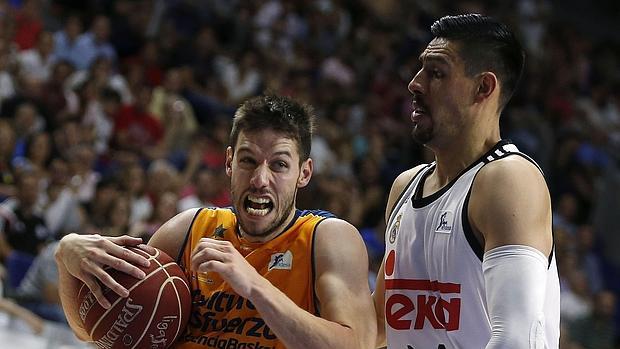
[{"label": "orange-jersey player's whole bent bare arm, shoulder to fist, not holding ball", "polygon": [[[218,272],[249,299],[289,348],[371,348],[375,341],[367,282],[368,257],[358,231],[339,219],[322,222],[315,237],[316,294],[321,317],[299,308],[226,241],[203,239],[192,267]],[[374,317],[373,317],[374,318]]]}]

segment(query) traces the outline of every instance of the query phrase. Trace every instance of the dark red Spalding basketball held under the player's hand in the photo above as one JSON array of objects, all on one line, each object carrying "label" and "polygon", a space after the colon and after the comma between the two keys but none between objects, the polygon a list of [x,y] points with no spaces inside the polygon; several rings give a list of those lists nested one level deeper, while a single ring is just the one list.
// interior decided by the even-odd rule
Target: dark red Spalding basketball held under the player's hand
[{"label": "dark red Spalding basketball held under the player's hand", "polygon": [[82,325],[98,348],[168,348],[189,320],[191,297],[185,274],[160,250],[151,255],[139,248],[127,248],[150,260],[148,268],[139,266],[146,277],[140,280],[108,269],[110,276],[129,291],[129,296],[122,298],[104,287],[112,305],[109,309],[82,285],[77,296]]}]

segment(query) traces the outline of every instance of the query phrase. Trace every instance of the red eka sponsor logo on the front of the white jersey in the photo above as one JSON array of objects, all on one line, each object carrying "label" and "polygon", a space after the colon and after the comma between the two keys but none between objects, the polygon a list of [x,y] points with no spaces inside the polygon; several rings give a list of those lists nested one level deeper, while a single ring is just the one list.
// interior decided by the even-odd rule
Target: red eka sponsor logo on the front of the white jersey
[{"label": "red eka sponsor logo on the front of the white jersey", "polygon": [[[385,319],[395,330],[421,330],[427,324],[434,329],[459,329],[461,284],[421,279],[388,279],[394,273],[395,251],[385,261]],[[413,292],[411,292],[413,291]],[[417,291],[417,292],[416,292]]]}]

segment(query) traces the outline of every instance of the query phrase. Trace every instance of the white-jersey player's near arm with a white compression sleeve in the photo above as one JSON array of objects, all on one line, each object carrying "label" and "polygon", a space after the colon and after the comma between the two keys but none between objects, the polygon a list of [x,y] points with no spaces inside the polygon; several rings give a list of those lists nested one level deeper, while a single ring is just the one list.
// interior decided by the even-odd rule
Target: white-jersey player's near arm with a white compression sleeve
[{"label": "white-jersey player's near arm with a white compression sleeve", "polygon": [[521,157],[483,168],[469,217],[484,242],[482,262],[491,339],[486,349],[524,348],[542,341],[551,205],[540,171]]}]

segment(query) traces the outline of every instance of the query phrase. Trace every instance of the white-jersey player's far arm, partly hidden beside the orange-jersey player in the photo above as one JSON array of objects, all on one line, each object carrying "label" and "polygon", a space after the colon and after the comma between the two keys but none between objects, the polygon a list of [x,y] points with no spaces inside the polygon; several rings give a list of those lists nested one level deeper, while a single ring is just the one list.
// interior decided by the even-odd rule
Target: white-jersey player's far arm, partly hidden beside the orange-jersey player
[{"label": "white-jersey player's far arm, partly hidden beside the orange-jersey player", "polygon": [[[420,170],[426,165],[418,165],[414,168],[411,168],[407,171],[404,171],[396,179],[394,183],[392,183],[392,188],[390,189],[390,195],[388,196],[388,202],[385,209],[385,223],[388,224],[390,220],[390,216],[392,211],[394,210],[394,205],[396,205],[396,201],[401,196],[407,185],[411,182],[413,177],[420,172]],[[386,338],[385,338],[385,282],[383,280],[383,262],[381,263],[381,267],[377,271],[377,281],[375,283],[375,291],[372,294],[374,306],[375,306],[375,314],[377,318],[377,343],[376,347],[384,347],[386,346]]]}]

